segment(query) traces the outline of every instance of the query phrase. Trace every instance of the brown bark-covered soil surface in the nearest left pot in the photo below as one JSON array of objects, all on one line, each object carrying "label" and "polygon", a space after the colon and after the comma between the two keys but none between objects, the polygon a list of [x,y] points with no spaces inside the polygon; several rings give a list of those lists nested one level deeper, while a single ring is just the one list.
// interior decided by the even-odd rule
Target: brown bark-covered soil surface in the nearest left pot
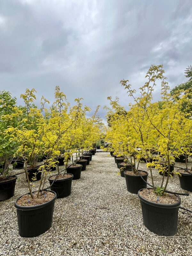
[{"label": "brown bark-covered soil surface in the nearest left pot", "polygon": [[[34,192],[34,198],[31,198],[30,195],[24,195],[22,197],[20,197],[17,200],[17,204],[21,205],[21,206],[33,206],[33,205],[39,205],[39,204],[43,204],[46,202],[49,202],[53,199],[53,197],[55,196],[52,192],[49,191],[43,191],[44,194],[42,193],[42,195],[37,196],[37,192]],[[46,197],[45,197],[46,195]],[[28,202],[29,200],[29,202]]]}]

